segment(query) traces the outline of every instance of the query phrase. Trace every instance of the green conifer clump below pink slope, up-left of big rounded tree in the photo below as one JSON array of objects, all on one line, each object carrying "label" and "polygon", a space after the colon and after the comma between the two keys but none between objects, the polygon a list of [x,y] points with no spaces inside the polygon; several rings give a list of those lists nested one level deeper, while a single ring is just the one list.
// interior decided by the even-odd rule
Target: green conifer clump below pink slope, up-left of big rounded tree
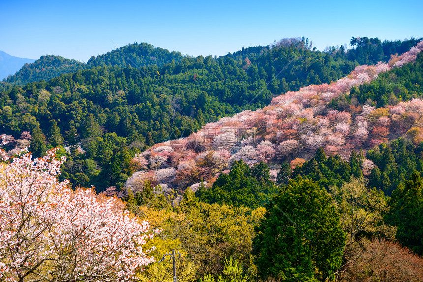
[{"label": "green conifer clump below pink slope, up-left of big rounded tree", "polygon": [[269,167],[260,162],[250,168],[242,160],[235,161],[229,174],[221,174],[208,189],[199,189],[198,198],[206,203],[257,208],[278,191],[269,175]]}]

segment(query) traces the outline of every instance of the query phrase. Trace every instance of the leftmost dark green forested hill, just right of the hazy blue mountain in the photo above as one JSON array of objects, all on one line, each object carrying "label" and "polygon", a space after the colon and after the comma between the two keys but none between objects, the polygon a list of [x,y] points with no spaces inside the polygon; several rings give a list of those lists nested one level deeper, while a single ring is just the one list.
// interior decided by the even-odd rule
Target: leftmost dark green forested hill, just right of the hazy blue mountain
[{"label": "leftmost dark green forested hill, just right of the hazy blue mountain", "polygon": [[61,56],[44,55],[25,64],[17,73],[7,77],[4,82],[13,85],[26,85],[34,81],[49,81],[63,73],[71,73],[83,68],[85,68],[85,64],[82,62]]}]

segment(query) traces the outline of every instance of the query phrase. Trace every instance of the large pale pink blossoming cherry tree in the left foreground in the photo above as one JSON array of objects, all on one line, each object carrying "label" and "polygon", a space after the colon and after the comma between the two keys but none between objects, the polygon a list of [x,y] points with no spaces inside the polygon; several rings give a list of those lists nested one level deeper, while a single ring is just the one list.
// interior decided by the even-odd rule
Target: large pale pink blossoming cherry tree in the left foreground
[{"label": "large pale pink blossoming cherry tree in the left foreground", "polygon": [[117,198],[58,182],[64,158],[54,152],[34,160],[24,152],[0,167],[0,280],[136,280],[154,261],[142,248],[149,223]]}]

